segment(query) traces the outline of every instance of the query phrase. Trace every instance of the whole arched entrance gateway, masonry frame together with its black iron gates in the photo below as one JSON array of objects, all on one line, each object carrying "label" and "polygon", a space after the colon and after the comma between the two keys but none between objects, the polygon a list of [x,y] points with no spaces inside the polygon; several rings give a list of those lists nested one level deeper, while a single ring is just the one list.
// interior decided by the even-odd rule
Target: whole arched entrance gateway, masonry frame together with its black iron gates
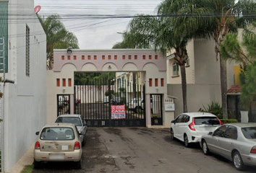
[{"label": "whole arched entrance gateway, masonry frame together with its black iron gates", "polygon": [[[74,86],[74,72],[111,71],[116,72],[116,79],[107,84]],[[64,113],[81,114],[91,127],[167,128],[174,119],[174,98],[167,95],[166,56],[160,51],[54,50],[54,70],[47,73],[48,123]],[[136,75],[135,87],[130,84],[132,74]],[[115,94],[106,96],[111,93],[108,89]]]}]

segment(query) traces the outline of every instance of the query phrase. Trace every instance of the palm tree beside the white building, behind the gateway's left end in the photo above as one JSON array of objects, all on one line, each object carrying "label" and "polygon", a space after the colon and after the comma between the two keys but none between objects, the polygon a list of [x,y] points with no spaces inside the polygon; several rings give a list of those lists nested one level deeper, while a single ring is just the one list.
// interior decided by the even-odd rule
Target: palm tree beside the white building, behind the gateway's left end
[{"label": "palm tree beside the white building, behind the gateway's left end", "polygon": [[58,14],[52,14],[46,19],[38,16],[38,19],[46,32],[46,53],[48,68],[53,68],[54,49],[79,48],[77,37],[66,30],[61,17]]}]

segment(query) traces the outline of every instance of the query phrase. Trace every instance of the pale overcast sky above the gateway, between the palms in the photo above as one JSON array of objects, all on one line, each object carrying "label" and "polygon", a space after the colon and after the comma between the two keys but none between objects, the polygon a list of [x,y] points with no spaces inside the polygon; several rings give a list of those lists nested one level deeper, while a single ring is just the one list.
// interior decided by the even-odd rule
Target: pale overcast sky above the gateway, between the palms
[{"label": "pale overcast sky above the gateway, between the palms", "polygon": [[132,16],[156,14],[162,0],[34,0],[39,15],[59,14],[80,49],[111,49],[122,41]]}]

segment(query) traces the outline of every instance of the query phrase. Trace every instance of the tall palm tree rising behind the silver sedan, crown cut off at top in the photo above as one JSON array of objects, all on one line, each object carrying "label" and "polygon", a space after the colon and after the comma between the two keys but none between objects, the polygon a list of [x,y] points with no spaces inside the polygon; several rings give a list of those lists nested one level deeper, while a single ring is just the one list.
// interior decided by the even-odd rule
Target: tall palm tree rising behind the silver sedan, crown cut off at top
[{"label": "tall palm tree rising behind the silver sedan, crown cut off at top", "polygon": [[216,43],[216,57],[220,61],[221,70],[223,118],[227,119],[227,70],[226,61],[221,58],[220,45],[229,32],[237,32],[237,27],[244,27],[254,20],[252,14],[255,13],[256,4],[254,0],[205,0],[203,3],[205,9],[210,9],[210,13],[206,14],[211,16],[207,30],[212,32]]}]

